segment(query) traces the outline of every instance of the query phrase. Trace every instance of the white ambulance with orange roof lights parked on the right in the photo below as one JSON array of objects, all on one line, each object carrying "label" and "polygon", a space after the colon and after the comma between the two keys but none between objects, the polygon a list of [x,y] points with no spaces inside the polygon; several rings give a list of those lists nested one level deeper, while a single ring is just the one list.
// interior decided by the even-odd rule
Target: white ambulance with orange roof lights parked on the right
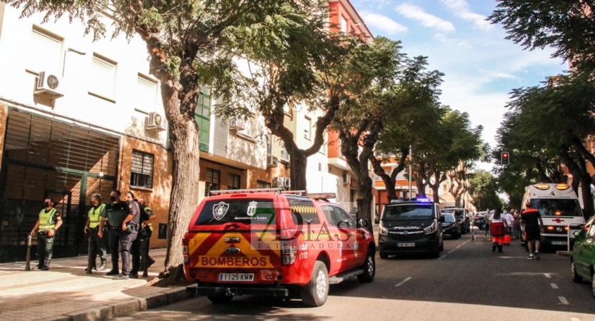
[{"label": "white ambulance with orange roof lights parked on the right", "polygon": [[539,210],[544,221],[544,233],[541,243],[544,245],[564,245],[574,243],[574,230],[580,230],[585,224],[579,198],[574,189],[565,183],[539,183],[525,188],[522,210],[526,210],[526,201]]}]

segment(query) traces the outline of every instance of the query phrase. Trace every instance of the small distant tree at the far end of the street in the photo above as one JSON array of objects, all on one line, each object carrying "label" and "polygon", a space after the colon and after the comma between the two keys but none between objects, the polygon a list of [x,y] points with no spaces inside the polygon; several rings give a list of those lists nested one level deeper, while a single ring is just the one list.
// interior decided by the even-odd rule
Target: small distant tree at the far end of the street
[{"label": "small distant tree at the far end of the street", "polygon": [[469,180],[469,193],[472,203],[477,210],[489,210],[501,208],[502,200],[499,198],[494,175],[486,170],[476,170],[471,180]]}]

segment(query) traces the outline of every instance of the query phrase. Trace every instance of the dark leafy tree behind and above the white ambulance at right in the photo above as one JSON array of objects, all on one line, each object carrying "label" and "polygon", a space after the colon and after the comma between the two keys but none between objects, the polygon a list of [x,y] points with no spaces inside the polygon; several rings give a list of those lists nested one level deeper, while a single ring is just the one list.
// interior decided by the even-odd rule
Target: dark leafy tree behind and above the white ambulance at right
[{"label": "dark leafy tree behind and above the white ambulance at right", "polygon": [[595,156],[583,138],[595,132],[595,88],[585,77],[559,76],[553,86],[515,89],[512,98],[509,119],[515,126],[502,131],[504,138],[528,155],[543,153],[546,161],[559,157],[573,175],[576,193],[581,188],[585,213],[591,216],[592,182],[586,162],[595,165]]}]

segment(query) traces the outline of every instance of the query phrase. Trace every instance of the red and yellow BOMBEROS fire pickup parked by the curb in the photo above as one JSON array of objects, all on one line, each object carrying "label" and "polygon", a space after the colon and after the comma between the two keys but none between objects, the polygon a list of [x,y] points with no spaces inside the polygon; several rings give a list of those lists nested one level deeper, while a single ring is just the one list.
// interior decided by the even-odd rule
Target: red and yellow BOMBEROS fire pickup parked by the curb
[{"label": "red and yellow BOMBEROS fire pickup parked by the curb", "polygon": [[214,303],[263,295],[317,307],[330,284],[372,282],[376,245],[367,221],[354,220],[327,194],[211,191],[182,240],[184,274],[195,282],[186,291]]}]

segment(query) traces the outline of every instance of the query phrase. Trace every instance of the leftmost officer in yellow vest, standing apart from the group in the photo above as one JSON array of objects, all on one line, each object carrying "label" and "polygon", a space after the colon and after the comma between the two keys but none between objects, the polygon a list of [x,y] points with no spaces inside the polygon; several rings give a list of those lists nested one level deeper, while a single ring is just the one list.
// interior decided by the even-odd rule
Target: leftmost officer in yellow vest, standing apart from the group
[{"label": "leftmost officer in yellow vest, standing apart from the group", "polygon": [[54,237],[56,230],[62,225],[62,218],[54,208],[54,200],[45,198],[44,206],[45,208],[39,212],[37,223],[31,230],[31,236],[37,232],[37,258],[39,258],[37,268],[47,271],[51,263],[51,255],[54,253]]}]

